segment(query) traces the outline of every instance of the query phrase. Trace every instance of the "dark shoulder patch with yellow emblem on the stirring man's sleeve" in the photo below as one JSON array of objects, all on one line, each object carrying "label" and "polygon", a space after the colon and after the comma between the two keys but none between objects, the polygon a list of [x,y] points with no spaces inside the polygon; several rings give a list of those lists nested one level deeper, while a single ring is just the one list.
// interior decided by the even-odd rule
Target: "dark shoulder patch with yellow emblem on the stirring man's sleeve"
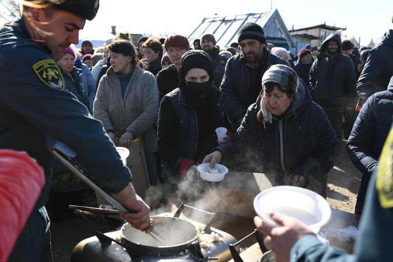
[{"label": "dark shoulder patch with yellow emblem on the stirring man's sleeve", "polygon": [[33,64],[32,68],[42,83],[48,85],[50,88],[64,90],[64,78],[54,60],[41,60]]}]

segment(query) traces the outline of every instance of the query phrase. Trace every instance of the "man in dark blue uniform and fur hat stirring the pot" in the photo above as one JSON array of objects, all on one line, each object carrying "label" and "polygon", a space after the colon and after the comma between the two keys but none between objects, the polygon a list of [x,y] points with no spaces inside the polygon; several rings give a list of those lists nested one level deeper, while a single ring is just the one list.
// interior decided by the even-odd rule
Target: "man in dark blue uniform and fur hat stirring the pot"
[{"label": "man in dark blue uniform and fur hat stirring the pot", "polygon": [[101,122],[64,90],[63,77],[53,60],[71,43],[78,43],[79,30],[85,19],[95,17],[99,0],[37,2],[25,1],[21,18],[0,30],[0,148],[26,151],[46,176],[46,185],[10,261],[52,261],[50,221],[43,205],[49,198],[54,160],[49,148],[55,140],[74,148],[75,160],[94,180],[136,212],[124,214],[126,221],[146,232],[152,230],[149,207],[130,184],[129,169],[122,164]]}]

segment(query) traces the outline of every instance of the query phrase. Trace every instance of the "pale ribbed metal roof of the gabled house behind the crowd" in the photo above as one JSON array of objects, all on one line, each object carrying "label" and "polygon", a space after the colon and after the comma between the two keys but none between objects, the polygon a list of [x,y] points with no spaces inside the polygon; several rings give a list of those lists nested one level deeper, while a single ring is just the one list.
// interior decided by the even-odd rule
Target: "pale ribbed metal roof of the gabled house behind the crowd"
[{"label": "pale ribbed metal roof of the gabled house behind the crowd", "polygon": [[[201,39],[202,35],[210,33],[214,35],[217,46],[228,47],[232,42],[237,42],[237,32],[248,22],[260,25],[267,37],[285,38],[290,46],[295,46],[295,41],[277,10],[204,18],[202,23],[188,36],[188,40],[192,45],[195,39]],[[269,26],[280,30],[267,30]]]}]

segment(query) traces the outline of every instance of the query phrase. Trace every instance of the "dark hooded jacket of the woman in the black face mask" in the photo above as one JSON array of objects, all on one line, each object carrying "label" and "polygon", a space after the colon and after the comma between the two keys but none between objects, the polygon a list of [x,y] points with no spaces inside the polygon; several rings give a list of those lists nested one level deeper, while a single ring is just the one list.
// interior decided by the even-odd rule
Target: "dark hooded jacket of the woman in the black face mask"
[{"label": "dark hooded jacket of the woman in the black face mask", "polygon": [[[165,95],[160,104],[158,114],[158,151],[162,159],[161,177],[168,181],[179,175],[180,165],[185,159],[197,161],[195,152],[198,147],[198,119],[193,109],[195,98],[185,91],[187,88],[182,79],[182,65],[192,55],[204,55],[210,60],[208,72],[212,79],[213,64],[210,57],[203,51],[193,50],[186,53],[181,60],[179,72],[179,88]],[[210,80],[211,81],[211,80]],[[224,126],[230,130],[230,123],[224,110],[222,93],[212,84],[206,92],[206,98],[216,105],[211,108],[211,119],[216,127]],[[208,154],[209,152],[206,152]]]}]

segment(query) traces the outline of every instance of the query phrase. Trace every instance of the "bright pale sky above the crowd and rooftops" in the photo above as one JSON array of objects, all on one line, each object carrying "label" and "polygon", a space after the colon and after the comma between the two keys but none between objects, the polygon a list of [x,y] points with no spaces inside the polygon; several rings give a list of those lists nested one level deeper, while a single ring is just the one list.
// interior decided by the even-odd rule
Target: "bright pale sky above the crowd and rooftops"
[{"label": "bright pale sky above the crowd and rooftops", "polygon": [[[326,23],[346,27],[343,36],[361,37],[367,45],[371,38],[380,39],[393,29],[392,0],[272,0],[272,9],[278,9],[288,29]],[[258,13],[270,10],[270,0],[226,1],[130,1],[100,0],[100,10],[93,21],[88,21],[80,38],[108,35],[111,26],[117,31],[148,34],[155,37],[171,33],[188,36],[204,17]],[[109,37],[109,35],[108,35]]]}]

